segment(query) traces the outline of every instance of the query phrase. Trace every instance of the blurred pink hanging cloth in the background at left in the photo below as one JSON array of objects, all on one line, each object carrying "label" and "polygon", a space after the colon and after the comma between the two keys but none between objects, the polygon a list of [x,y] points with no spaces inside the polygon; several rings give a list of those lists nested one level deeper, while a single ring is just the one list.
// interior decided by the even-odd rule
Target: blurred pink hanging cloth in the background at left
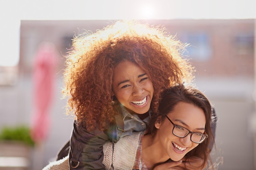
[{"label": "blurred pink hanging cloth in the background at left", "polygon": [[42,142],[49,133],[49,109],[54,97],[56,57],[58,57],[58,54],[52,42],[42,42],[39,45],[32,75],[33,113],[31,117],[31,137],[35,142]]}]

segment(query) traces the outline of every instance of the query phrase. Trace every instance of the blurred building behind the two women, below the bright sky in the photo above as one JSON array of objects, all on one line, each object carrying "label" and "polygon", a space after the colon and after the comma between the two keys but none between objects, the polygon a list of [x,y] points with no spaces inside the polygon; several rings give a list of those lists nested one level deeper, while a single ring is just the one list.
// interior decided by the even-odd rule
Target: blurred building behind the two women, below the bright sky
[{"label": "blurred building behind the two women, below the bright sky", "polygon": [[[197,70],[195,83],[216,108],[219,121],[213,161],[222,162],[219,170],[254,169],[253,131],[249,121],[254,105],[254,20],[145,20],[163,24],[184,43],[191,46],[185,53]],[[36,49],[42,41],[56,45],[56,91],[52,103],[52,130],[43,150],[34,158],[40,169],[53,160],[70,137],[72,118],[65,116],[66,101],[61,100],[63,55],[74,35],[95,32],[111,24],[108,20],[21,21],[20,63],[18,67],[0,68],[0,125],[30,123],[31,74]],[[12,70],[12,71],[6,71]],[[17,71],[18,70],[18,71]],[[11,72],[11,73],[10,73]],[[5,81],[6,80],[6,81]],[[9,82],[9,83],[8,83]],[[256,122],[256,120],[254,120]],[[40,163],[41,162],[41,163]]]}]

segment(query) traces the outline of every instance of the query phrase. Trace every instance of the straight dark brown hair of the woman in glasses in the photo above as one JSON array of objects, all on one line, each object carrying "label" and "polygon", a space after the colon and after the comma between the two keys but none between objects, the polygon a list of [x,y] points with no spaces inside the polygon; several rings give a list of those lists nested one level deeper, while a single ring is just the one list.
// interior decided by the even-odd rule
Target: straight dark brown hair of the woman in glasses
[{"label": "straight dark brown hair of the woman in glasses", "polygon": [[171,113],[179,102],[191,103],[204,111],[206,118],[205,133],[207,133],[209,137],[203,143],[199,144],[197,147],[195,147],[193,150],[191,150],[189,153],[185,155],[186,158],[193,156],[202,158],[204,162],[202,163],[202,166],[198,168],[203,168],[203,166],[210,159],[209,145],[211,144],[212,141],[214,143],[214,137],[211,131],[212,107],[206,96],[204,96],[204,94],[200,92],[198,89],[195,89],[190,86],[186,87],[184,85],[176,85],[169,89],[166,89],[162,93],[162,100],[160,100],[159,103],[158,114],[154,114],[150,120],[148,126],[148,133],[151,133],[154,136],[157,131],[157,129],[155,128],[155,122],[164,121],[166,115]]}]

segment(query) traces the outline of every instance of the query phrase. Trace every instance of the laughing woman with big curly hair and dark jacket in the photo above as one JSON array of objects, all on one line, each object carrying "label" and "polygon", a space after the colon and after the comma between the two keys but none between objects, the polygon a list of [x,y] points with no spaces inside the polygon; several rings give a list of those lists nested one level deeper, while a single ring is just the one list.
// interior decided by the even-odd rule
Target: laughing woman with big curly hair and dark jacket
[{"label": "laughing woman with big curly hair and dark jacket", "polygon": [[67,113],[75,116],[70,169],[105,169],[103,144],[144,131],[158,114],[160,94],[193,82],[185,48],[165,28],[136,21],[74,37],[63,89]]}]

